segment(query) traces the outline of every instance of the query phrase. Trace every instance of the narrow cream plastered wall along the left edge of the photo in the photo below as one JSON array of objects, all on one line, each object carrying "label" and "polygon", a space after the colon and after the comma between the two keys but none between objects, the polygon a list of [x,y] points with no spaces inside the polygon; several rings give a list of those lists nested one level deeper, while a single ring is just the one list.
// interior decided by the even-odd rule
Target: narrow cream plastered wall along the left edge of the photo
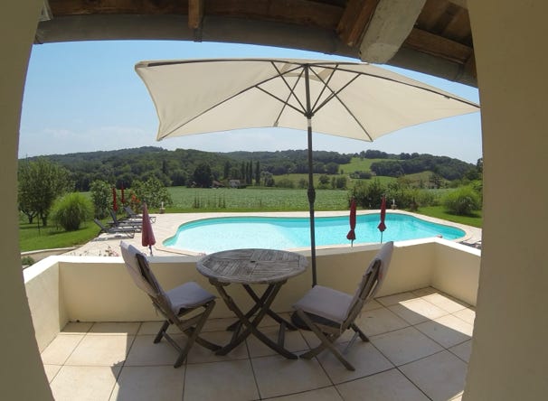
[{"label": "narrow cream plastered wall along the left edge of the photo", "polygon": [[0,13],[0,398],[48,400],[48,386],[26,301],[18,244],[17,145],[24,79],[43,2],[3,2]]}]

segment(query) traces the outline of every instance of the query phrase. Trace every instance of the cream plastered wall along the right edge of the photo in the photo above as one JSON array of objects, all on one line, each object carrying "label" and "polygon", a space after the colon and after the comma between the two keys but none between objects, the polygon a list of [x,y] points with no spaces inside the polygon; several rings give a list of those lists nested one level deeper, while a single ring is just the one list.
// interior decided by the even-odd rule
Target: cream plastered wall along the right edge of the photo
[{"label": "cream plastered wall along the right edge of the photo", "polygon": [[464,401],[548,395],[548,3],[468,0],[482,106],[483,254]]}]

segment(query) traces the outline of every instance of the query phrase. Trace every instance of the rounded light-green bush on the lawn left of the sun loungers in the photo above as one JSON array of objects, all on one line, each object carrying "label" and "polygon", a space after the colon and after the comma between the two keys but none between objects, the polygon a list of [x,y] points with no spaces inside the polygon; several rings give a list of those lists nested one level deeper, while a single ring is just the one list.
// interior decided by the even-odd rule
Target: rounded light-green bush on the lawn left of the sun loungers
[{"label": "rounded light-green bush on the lawn left of the sun loungers", "polygon": [[83,221],[91,219],[93,206],[80,192],[63,196],[53,206],[52,219],[67,231],[76,231]]}]

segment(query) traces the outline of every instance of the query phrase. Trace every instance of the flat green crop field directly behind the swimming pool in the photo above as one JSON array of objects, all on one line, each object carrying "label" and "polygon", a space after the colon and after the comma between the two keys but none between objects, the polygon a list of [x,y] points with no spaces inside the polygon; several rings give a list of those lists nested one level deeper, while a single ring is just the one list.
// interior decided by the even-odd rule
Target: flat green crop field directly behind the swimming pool
[{"label": "flat green crop field directly behind the swimming pool", "polygon": [[[296,189],[203,189],[170,187],[174,205],[166,211],[279,211],[308,210],[307,190]],[[316,210],[345,210],[348,192],[316,191]]]}]

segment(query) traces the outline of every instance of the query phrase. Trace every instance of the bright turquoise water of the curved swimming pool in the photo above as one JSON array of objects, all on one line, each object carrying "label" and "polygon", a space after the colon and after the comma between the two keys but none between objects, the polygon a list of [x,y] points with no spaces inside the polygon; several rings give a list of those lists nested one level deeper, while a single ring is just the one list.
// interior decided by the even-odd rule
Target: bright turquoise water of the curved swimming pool
[{"label": "bright turquoise water of the curved swimming pool", "polygon": [[[358,215],[354,245],[379,242],[381,233],[378,214]],[[350,244],[346,239],[348,216],[317,217],[317,247]],[[442,236],[461,238],[460,228],[444,226],[400,213],[386,214],[384,241],[402,241]],[[164,241],[165,247],[211,254],[241,247],[289,249],[310,247],[308,218],[229,217],[201,219],[179,227],[174,237]]]}]

